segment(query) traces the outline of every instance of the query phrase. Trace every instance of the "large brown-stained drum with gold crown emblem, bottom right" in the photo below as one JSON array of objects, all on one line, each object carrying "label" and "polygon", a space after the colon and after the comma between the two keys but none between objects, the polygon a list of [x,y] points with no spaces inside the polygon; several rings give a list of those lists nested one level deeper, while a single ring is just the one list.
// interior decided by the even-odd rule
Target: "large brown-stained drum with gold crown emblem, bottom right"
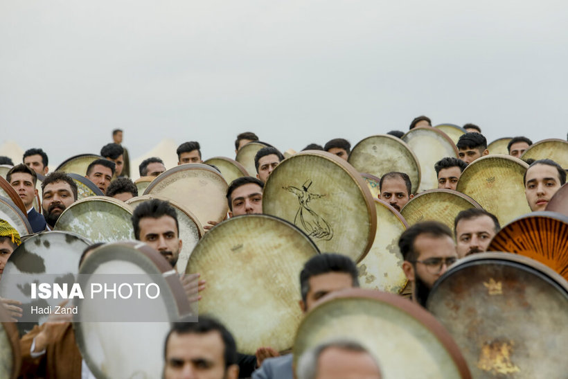
[{"label": "large brown-stained drum with gold crown emblem, bottom right", "polygon": [[454,337],[474,378],[566,372],[568,283],[529,258],[481,253],[434,284],[427,308]]}]

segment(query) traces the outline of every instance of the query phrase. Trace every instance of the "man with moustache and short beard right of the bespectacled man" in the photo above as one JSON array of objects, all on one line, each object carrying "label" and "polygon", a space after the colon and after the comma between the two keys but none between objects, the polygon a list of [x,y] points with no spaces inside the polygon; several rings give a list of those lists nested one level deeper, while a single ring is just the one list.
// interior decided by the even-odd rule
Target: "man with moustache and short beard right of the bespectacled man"
[{"label": "man with moustache and short beard right of the bespectacled man", "polygon": [[500,229],[497,217],[485,209],[470,208],[458,213],[454,220],[454,233],[459,258],[486,252]]}]

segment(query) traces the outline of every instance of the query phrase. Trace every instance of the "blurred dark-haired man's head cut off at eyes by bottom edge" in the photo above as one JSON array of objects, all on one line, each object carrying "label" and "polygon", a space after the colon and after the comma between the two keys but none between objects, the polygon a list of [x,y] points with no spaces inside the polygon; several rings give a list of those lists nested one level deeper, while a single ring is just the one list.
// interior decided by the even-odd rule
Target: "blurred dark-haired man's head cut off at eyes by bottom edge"
[{"label": "blurred dark-haired man's head cut off at eyes by bottom edge", "polygon": [[163,348],[163,378],[236,379],[237,347],[219,321],[199,316],[197,322],[176,322]]}]

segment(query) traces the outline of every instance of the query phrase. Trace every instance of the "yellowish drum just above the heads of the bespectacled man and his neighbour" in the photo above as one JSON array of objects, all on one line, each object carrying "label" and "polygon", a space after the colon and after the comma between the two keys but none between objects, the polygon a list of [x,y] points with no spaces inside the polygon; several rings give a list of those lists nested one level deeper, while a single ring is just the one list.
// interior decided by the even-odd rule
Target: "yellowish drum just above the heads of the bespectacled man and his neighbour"
[{"label": "yellowish drum just above the heads of the bespectacled man and his neighbour", "polygon": [[470,208],[481,209],[481,205],[468,195],[440,188],[418,193],[402,207],[400,213],[409,225],[434,220],[447,225],[454,231],[456,215]]}]

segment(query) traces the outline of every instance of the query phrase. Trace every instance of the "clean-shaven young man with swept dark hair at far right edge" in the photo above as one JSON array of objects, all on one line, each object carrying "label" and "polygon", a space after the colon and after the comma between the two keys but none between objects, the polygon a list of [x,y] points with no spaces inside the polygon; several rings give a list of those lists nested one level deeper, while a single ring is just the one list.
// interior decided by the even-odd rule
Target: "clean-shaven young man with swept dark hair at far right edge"
[{"label": "clean-shaven young man with swept dark hair at far right edge", "polygon": [[544,211],[552,196],[566,183],[566,171],[551,159],[539,159],[526,169],[523,182],[531,211]]}]

